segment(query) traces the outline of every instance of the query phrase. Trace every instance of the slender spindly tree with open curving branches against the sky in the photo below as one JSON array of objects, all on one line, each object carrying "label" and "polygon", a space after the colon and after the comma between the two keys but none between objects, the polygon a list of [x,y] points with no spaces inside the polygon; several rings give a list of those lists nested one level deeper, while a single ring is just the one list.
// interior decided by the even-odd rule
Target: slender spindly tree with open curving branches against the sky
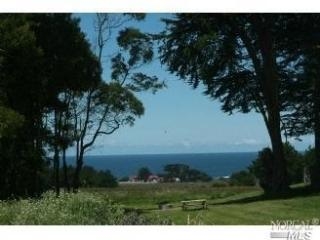
[{"label": "slender spindly tree with open curving branches against the sky", "polygon": [[[143,14],[113,15],[97,14],[97,57],[104,67],[105,47],[112,32],[130,20],[142,20]],[[111,59],[111,79],[104,79],[85,94],[75,98],[73,109],[76,170],[73,188],[80,184],[80,171],[84,154],[101,135],[110,135],[122,125],[133,125],[135,118],[144,113],[143,104],[134,92],[151,90],[156,92],[164,87],[155,76],[139,72],[139,67],[152,61],[153,44],[150,36],[136,29],[126,28],[117,38],[119,53]],[[122,53],[121,53],[122,52]],[[106,71],[109,69],[105,69]],[[79,103],[79,104],[77,104]]]}]

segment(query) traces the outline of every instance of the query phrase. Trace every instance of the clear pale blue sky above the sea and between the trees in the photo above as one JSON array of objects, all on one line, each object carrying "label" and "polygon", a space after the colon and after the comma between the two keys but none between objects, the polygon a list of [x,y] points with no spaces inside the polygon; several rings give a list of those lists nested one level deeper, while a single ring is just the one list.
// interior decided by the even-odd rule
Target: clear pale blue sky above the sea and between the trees
[{"label": "clear pale blue sky above the sea and between the trees", "polygon": [[[94,14],[76,14],[81,18],[81,28],[94,46]],[[164,14],[148,14],[143,22],[131,22],[147,32],[163,29],[160,19]],[[116,32],[114,32],[114,38]],[[108,45],[105,56],[116,51],[115,40]],[[105,58],[104,77],[108,79],[108,58]],[[90,155],[144,154],[144,153],[199,153],[259,151],[269,146],[268,134],[257,113],[227,115],[220,104],[202,94],[203,89],[192,89],[176,76],[169,74],[165,66],[154,61],[143,68],[150,75],[157,75],[168,86],[157,94],[140,93],[145,114],[133,127],[122,127],[113,135],[100,137]],[[290,141],[298,150],[313,144],[312,136],[299,142]]]}]

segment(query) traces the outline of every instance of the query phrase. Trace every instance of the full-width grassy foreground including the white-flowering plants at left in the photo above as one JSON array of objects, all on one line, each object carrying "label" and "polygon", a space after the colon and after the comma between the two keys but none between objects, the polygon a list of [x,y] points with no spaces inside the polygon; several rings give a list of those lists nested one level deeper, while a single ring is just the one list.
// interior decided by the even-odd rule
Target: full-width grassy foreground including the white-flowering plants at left
[{"label": "full-width grassy foreground including the white-flowering plants at left", "polygon": [[[182,200],[206,199],[208,209],[182,210]],[[166,202],[168,209],[158,204]],[[0,224],[64,225],[268,225],[276,220],[320,218],[320,194],[296,186],[266,197],[256,187],[212,183],[125,184],[114,189],[81,189],[78,194],[46,193],[43,198],[0,201]]]}]

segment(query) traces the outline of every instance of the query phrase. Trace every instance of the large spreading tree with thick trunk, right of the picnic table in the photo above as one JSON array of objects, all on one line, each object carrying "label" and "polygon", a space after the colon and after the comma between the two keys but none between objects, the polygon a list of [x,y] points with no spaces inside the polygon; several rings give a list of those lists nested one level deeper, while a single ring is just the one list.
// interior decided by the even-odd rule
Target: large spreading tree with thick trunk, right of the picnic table
[{"label": "large spreading tree with thick trunk, right of the picnic table", "polygon": [[[161,60],[169,71],[222,102],[222,110],[259,112],[267,127],[273,157],[267,192],[288,189],[280,112],[282,82],[299,55],[287,54],[290,14],[176,14],[164,20]],[[297,37],[301,37],[303,31]],[[286,44],[284,44],[286,43]]]}]

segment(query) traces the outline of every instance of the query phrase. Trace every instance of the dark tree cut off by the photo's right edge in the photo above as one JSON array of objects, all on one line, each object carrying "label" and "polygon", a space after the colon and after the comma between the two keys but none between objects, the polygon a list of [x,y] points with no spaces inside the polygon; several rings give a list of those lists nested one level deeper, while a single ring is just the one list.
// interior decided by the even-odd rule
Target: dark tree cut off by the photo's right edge
[{"label": "dark tree cut off by the photo's right edge", "polygon": [[[290,66],[291,81],[284,82],[283,129],[289,136],[314,134],[316,161],[310,169],[311,185],[320,190],[320,16],[295,15],[287,31],[287,54],[297,59]],[[303,29],[303,31],[301,31]],[[297,58],[298,56],[298,58]]]}]

